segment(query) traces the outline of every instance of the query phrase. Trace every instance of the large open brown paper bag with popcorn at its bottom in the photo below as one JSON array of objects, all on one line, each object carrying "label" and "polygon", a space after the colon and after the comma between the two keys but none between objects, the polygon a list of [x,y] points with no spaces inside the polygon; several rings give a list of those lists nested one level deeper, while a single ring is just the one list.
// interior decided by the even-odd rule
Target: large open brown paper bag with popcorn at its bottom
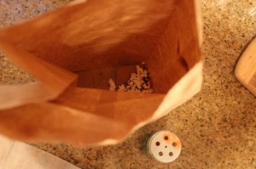
[{"label": "large open brown paper bag with popcorn at its bottom", "polygon": [[[195,7],[88,0],[1,30],[1,50],[37,81],[0,87],[0,132],[32,142],[113,144],[177,108],[201,89]],[[142,62],[154,93],[108,91],[106,79]]]}]

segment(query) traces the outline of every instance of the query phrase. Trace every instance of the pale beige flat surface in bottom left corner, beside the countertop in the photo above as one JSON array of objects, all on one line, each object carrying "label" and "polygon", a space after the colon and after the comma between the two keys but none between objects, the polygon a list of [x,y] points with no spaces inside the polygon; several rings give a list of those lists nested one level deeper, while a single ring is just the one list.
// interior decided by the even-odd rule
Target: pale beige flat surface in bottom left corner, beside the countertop
[{"label": "pale beige flat surface in bottom left corner, beside the countertop", "polygon": [[0,135],[0,169],[79,169],[29,144]]}]

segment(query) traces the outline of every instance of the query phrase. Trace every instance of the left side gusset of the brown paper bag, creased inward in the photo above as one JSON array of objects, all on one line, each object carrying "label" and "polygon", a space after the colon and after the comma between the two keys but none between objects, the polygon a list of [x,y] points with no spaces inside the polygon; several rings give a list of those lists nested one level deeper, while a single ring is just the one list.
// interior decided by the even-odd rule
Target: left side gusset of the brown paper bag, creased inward
[{"label": "left side gusset of the brown paper bag, creased inward", "polygon": [[77,79],[75,74],[38,59],[8,42],[0,42],[0,48],[15,65],[32,73],[38,81],[34,84],[0,87],[0,100],[3,100],[0,102],[0,110],[56,99]]}]

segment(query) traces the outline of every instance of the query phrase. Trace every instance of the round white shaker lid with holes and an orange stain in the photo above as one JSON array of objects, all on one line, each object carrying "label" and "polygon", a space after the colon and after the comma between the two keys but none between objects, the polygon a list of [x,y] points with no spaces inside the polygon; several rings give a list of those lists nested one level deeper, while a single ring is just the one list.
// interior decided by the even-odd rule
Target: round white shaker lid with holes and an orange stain
[{"label": "round white shaker lid with holes and an orange stain", "polygon": [[175,161],[180,155],[182,144],[177,136],[168,131],[154,133],[148,139],[148,153],[161,163]]}]

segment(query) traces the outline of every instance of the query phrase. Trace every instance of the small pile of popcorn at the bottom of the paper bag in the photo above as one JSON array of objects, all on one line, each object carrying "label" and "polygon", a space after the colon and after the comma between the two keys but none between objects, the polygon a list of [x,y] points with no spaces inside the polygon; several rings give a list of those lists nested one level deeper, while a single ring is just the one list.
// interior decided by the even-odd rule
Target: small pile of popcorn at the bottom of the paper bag
[{"label": "small pile of popcorn at the bottom of the paper bag", "polygon": [[[118,92],[135,92],[135,93],[153,93],[153,89],[150,87],[150,75],[147,69],[136,66],[137,73],[131,73],[131,78],[127,84],[122,84],[118,88]],[[108,80],[109,90],[116,91],[115,82],[113,79]]]}]

